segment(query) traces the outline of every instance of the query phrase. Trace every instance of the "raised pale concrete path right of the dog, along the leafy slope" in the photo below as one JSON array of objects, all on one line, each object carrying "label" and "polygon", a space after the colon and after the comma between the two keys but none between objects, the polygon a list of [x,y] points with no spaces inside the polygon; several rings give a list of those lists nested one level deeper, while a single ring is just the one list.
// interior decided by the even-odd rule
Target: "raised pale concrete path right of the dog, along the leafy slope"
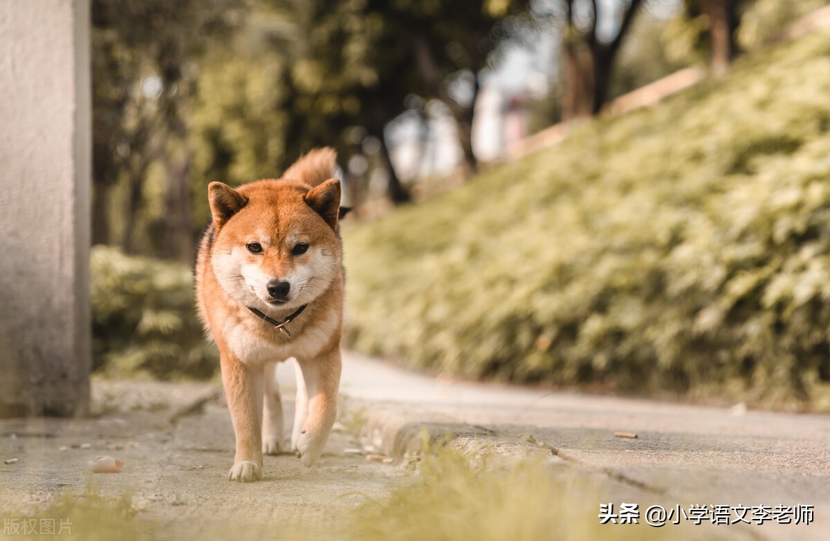
[{"label": "raised pale concrete path right of the dog, along the leafy slope", "polygon": [[[346,356],[342,388],[369,407],[364,439],[390,454],[400,452],[401,433],[412,434],[418,422],[431,422],[436,432],[468,426],[491,440],[549,447],[574,468],[637,489],[641,511],[653,504],[727,506],[730,522],[739,522],[716,525],[721,536],[830,539],[830,415],[436,380],[355,353]],[[619,504],[623,495],[623,487],[611,490],[608,502]],[[741,506],[753,508],[746,514],[752,525],[739,534]],[[764,520],[765,506],[777,519]],[[813,509],[814,522],[778,524],[786,520],[779,506],[793,514]]]}]

